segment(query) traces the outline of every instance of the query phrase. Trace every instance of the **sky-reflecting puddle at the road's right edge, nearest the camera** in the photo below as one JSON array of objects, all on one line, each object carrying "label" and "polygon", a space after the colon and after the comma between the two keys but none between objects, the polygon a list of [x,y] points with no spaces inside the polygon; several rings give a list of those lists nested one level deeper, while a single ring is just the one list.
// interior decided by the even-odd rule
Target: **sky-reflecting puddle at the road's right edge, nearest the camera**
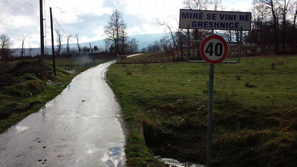
[{"label": "sky-reflecting puddle at the road's right edge, nearest the camera", "polygon": [[112,147],[103,155],[101,161],[105,162],[107,166],[122,166],[123,163],[123,148],[121,147]]}]

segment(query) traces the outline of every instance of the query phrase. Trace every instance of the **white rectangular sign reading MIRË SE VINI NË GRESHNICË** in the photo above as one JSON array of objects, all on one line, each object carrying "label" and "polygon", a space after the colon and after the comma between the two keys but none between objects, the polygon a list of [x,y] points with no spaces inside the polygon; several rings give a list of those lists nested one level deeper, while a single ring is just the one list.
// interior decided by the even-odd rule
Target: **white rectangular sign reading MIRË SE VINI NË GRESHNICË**
[{"label": "white rectangular sign reading MIR\u00cb SE VINI N\u00cb GRESHNIC\u00cb", "polygon": [[179,28],[251,31],[251,12],[180,9]]}]

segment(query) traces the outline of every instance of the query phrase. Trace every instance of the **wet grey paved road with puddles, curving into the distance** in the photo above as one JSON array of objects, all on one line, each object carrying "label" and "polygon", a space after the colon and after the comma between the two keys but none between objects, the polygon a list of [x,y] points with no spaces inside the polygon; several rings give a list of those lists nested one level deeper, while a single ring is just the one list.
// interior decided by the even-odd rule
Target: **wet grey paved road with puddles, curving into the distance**
[{"label": "wet grey paved road with puddles, curving into the distance", "polygon": [[76,76],[46,107],[0,134],[0,166],[123,166],[120,107],[102,77],[114,62]]}]

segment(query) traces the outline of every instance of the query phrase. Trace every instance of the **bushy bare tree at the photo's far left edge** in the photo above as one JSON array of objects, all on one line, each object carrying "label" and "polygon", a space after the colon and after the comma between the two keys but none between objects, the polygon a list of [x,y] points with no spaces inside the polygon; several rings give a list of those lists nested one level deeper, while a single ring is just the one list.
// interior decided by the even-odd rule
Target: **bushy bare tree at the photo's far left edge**
[{"label": "bushy bare tree at the photo's far left edge", "polygon": [[6,62],[7,59],[15,52],[12,49],[12,45],[11,39],[7,36],[7,34],[0,34],[0,53],[4,62]]}]

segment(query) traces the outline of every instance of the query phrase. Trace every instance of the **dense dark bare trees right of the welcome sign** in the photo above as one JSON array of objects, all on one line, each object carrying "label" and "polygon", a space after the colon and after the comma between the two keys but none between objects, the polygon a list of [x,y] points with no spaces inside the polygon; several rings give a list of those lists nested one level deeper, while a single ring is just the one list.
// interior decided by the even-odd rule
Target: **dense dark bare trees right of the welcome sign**
[{"label": "dense dark bare trees right of the welcome sign", "polygon": [[274,45],[276,53],[296,52],[296,0],[254,0],[251,12],[252,31],[245,34],[246,42]]}]

